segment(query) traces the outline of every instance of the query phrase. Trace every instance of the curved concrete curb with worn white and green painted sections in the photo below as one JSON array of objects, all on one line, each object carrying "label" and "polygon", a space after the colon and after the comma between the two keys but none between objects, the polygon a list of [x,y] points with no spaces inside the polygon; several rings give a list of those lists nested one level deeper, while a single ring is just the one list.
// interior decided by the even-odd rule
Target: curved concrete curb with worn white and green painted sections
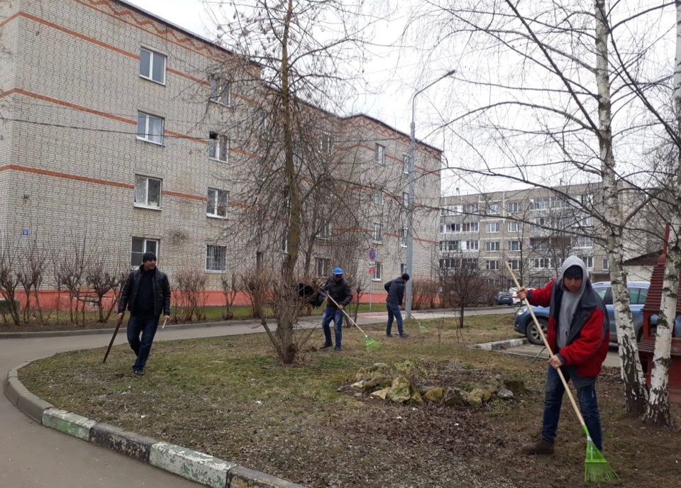
[{"label": "curved concrete curb with worn white and green painted sections", "polygon": [[17,409],[45,427],[114,450],[135,460],[191,479],[211,488],[305,488],[286,479],[250,470],[179,445],[129,433],[107,423],[72,414],[36,397],[19,381],[18,370],[7,373],[5,395]]}]

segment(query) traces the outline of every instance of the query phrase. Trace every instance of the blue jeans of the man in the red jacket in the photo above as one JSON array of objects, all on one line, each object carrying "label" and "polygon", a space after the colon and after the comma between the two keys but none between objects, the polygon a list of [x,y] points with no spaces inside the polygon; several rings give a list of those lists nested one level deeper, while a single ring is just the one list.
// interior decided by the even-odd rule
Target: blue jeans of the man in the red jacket
[{"label": "blue jeans of the man in the red jacket", "polygon": [[[570,381],[570,373],[567,372],[567,367],[561,367],[563,376],[566,381]],[[584,378],[582,378],[584,380]],[[577,401],[580,404],[580,411],[584,417],[584,423],[587,424],[591,440],[598,450],[603,450],[603,434],[601,432],[601,416],[598,411],[598,402],[596,399],[596,378],[586,379],[585,386],[577,387]],[[558,429],[558,419],[560,418],[560,405],[563,404],[563,394],[565,387],[560,381],[558,371],[553,367],[548,367],[546,374],[546,389],[544,392],[544,421],[541,429],[541,436],[544,440],[553,443],[555,440],[555,432]]]}]

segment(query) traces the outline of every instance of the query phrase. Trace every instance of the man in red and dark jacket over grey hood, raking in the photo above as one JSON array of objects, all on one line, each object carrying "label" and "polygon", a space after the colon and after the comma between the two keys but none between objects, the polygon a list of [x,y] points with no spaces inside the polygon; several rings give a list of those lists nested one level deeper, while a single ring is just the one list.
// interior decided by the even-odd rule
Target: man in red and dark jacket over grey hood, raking
[{"label": "man in red and dark jacket over grey hood, raking", "polygon": [[603,450],[601,418],[596,399],[596,377],[608,353],[608,314],[601,297],[594,292],[587,267],[570,256],[560,275],[546,287],[518,290],[518,298],[531,305],[549,306],[547,340],[553,355],[548,360],[541,438],[523,446],[528,454],[552,454],[565,387],[558,368],[577,388],[582,416],[594,445]]}]

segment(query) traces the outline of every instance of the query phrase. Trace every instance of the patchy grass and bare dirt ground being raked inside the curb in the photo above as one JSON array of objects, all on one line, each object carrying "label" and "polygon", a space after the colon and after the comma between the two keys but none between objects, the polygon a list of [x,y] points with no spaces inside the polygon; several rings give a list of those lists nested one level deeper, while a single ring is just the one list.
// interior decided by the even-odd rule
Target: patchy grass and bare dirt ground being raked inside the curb
[{"label": "patchy grass and bare dirt ground being raked inside the curb", "polygon": [[[99,350],[69,353],[32,363],[20,379],[59,408],[308,487],[582,486],[586,441],[567,399],[555,455],[521,452],[540,430],[545,365],[465,347],[512,336],[508,317],[480,321],[463,331],[426,323],[430,332],[382,337],[372,353],[345,331],[343,353],[309,348],[294,366],[280,365],[255,335],[155,344],[145,377],[132,375],[121,346],[106,365]],[[380,337],[381,326],[366,330]],[[346,388],[362,367],[400,369],[405,360],[413,367],[402,372],[419,387],[469,388],[501,375],[526,391],[474,408],[392,404]],[[680,487],[679,429],[626,416],[621,389],[619,371],[604,370],[604,455],[619,486]],[[672,405],[675,421],[679,414]]]}]

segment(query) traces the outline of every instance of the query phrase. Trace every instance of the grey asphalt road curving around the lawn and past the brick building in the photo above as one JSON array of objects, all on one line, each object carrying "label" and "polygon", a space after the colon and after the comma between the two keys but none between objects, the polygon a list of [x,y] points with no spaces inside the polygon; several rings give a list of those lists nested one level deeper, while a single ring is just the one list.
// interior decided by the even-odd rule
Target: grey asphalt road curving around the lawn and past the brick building
[{"label": "grey asphalt road curving around the lawn and past the brick building", "polygon": [[[385,321],[380,311],[362,314],[364,323]],[[477,309],[466,315],[510,313],[512,308]],[[450,317],[451,311],[414,312],[416,320]],[[305,318],[302,326],[319,326],[321,318]],[[231,336],[262,332],[255,322],[230,322],[187,328],[167,326],[157,332],[155,340],[181,340]],[[195,488],[201,485],[172,475],[130,457],[99,448],[84,440],[43,427],[18,411],[4,394],[9,370],[26,361],[48,357],[70,350],[102,348],[109,344],[111,331],[78,336],[40,336],[0,338],[0,487],[12,488]],[[320,339],[321,339],[320,331]],[[124,326],[114,344],[126,343]],[[132,353],[131,353],[132,357]],[[152,357],[153,360],[153,357]],[[74,412],[77,413],[77,412]],[[257,470],[257,466],[253,466]]]}]

